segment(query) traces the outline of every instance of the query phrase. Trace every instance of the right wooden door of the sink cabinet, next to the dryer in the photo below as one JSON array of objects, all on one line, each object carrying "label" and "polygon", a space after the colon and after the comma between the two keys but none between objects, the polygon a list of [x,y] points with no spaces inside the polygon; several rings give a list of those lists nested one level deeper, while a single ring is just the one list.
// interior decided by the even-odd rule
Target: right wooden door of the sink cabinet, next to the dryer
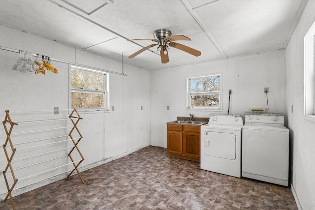
[{"label": "right wooden door of the sink cabinet, next to the dryer", "polygon": [[200,158],[200,133],[184,132],[183,153]]}]

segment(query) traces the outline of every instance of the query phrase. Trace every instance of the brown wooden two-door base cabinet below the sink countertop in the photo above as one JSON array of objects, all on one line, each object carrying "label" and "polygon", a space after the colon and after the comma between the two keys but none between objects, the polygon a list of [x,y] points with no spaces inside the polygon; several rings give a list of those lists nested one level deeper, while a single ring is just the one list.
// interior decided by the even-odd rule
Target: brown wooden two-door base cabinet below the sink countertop
[{"label": "brown wooden two-door base cabinet below the sink countertop", "polygon": [[200,126],[167,124],[170,156],[200,162]]}]

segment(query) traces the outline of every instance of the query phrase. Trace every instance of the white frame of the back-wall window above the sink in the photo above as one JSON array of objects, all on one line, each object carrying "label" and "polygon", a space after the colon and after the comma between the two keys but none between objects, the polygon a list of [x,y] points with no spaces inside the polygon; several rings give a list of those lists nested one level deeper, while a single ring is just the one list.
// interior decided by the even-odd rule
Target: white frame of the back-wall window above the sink
[{"label": "white frame of the back-wall window above the sink", "polygon": [[[195,91],[190,91],[190,80],[191,79],[202,79],[202,78],[210,78],[210,77],[220,77],[220,90],[208,90],[208,91],[202,91],[201,94],[219,94],[219,106],[191,106],[190,105],[190,96],[193,94],[196,94]],[[192,94],[191,94],[192,93]],[[200,95],[200,92],[198,92]],[[192,111],[192,110],[211,110],[211,111],[222,111],[222,74],[221,73],[215,73],[210,75],[202,75],[202,76],[194,76],[194,77],[186,77],[186,110]]]}]

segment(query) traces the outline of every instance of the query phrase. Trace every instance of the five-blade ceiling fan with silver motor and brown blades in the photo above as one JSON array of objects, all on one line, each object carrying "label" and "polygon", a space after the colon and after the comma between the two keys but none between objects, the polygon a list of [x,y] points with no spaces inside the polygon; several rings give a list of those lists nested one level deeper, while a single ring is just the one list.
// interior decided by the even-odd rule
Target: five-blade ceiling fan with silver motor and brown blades
[{"label": "five-blade ceiling fan with silver motor and brown blades", "polygon": [[130,40],[128,40],[128,41],[151,40],[151,41],[158,42],[157,44],[151,44],[147,47],[142,48],[141,50],[135,52],[134,54],[132,54],[128,58],[132,59],[133,57],[139,55],[140,53],[144,52],[145,50],[148,50],[149,48],[154,47],[156,45],[158,45],[157,51],[160,52],[162,63],[167,63],[169,61],[168,51],[167,51],[167,49],[169,49],[169,47],[177,48],[177,49],[185,51],[186,53],[189,53],[193,56],[200,56],[201,55],[201,52],[198,50],[192,49],[192,48],[190,48],[186,45],[183,45],[183,44],[173,42],[173,41],[177,41],[177,40],[191,41],[191,39],[189,39],[187,36],[184,36],[184,35],[173,35],[172,36],[172,32],[170,30],[167,30],[167,29],[156,30],[156,31],[154,31],[153,35],[154,35],[154,39],[130,39]]}]

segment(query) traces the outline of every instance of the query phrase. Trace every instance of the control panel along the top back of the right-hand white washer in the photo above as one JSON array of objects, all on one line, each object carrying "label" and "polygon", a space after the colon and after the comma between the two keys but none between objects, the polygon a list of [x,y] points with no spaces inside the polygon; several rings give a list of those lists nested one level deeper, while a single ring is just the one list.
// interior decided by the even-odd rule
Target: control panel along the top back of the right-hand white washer
[{"label": "control panel along the top back of the right-hand white washer", "polygon": [[281,114],[245,114],[245,123],[284,124],[284,115]]}]

